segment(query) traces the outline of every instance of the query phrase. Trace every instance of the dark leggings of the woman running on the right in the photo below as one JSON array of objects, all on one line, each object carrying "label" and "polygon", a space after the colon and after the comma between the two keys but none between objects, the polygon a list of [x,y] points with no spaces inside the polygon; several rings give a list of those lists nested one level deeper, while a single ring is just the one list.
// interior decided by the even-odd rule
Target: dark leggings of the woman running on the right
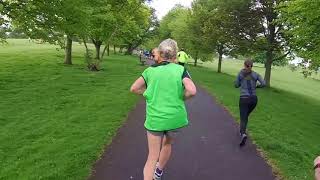
[{"label": "dark leggings of the woman running on the right", "polygon": [[240,133],[246,133],[250,113],[257,106],[257,96],[242,96],[239,101],[240,108]]}]

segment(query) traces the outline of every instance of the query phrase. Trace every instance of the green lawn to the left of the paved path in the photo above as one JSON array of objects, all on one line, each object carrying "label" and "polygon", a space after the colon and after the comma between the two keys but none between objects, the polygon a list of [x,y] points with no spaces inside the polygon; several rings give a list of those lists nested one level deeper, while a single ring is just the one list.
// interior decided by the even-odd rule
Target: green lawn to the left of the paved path
[{"label": "green lawn to the left of the paved path", "polygon": [[74,65],[55,46],[10,40],[0,49],[0,179],[86,179],[138,97],[129,86],[142,67],[111,56],[103,71]]}]

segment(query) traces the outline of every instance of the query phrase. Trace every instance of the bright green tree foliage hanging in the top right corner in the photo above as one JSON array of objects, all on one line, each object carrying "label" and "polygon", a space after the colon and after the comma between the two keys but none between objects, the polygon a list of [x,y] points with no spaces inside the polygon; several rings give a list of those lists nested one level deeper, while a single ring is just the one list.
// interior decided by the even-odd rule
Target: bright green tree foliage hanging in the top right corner
[{"label": "bright green tree foliage hanging in the top right corner", "polygon": [[[304,62],[310,62],[309,70],[320,67],[320,1],[284,1],[279,8],[280,21],[284,24],[289,46]],[[304,66],[305,67],[305,66]]]}]

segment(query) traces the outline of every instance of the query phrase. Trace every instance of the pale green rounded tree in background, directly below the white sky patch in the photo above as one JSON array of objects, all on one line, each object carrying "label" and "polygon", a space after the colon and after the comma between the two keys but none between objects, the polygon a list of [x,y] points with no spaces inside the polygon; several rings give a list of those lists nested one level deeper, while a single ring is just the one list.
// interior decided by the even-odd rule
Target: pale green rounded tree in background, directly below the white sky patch
[{"label": "pale green rounded tree in background, directly below the white sky patch", "polygon": [[199,21],[192,14],[191,9],[181,5],[172,8],[160,21],[159,29],[155,31],[157,35],[145,43],[147,49],[158,46],[163,39],[172,38],[177,41],[180,48],[184,48],[195,59],[195,65],[198,59],[212,60],[212,52],[201,47],[203,40]]}]

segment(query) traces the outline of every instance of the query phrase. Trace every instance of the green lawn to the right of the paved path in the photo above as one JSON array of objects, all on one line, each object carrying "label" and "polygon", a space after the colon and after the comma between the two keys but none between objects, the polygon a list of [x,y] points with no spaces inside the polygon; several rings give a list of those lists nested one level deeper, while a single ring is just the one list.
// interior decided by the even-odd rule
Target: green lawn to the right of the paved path
[{"label": "green lawn to the right of the paved path", "polygon": [[[190,67],[194,80],[205,87],[239,119],[239,90],[233,82],[242,63],[223,62],[226,74],[216,65]],[[262,68],[255,68],[262,73]],[[319,152],[320,82],[304,79],[286,68],[273,70],[272,85],[259,89],[259,104],[249,122],[249,133],[265,155],[289,180],[313,179],[312,163]]]}]

